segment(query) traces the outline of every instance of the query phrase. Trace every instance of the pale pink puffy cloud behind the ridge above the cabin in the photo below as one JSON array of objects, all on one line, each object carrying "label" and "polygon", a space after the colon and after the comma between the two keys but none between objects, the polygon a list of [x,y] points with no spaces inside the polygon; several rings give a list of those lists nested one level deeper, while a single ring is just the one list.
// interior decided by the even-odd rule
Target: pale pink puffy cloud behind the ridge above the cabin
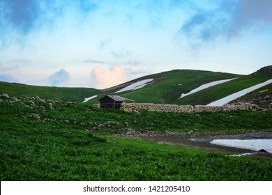
[{"label": "pale pink puffy cloud behind the ridge above the cabin", "polygon": [[128,72],[129,70],[118,65],[112,65],[109,70],[96,66],[91,70],[91,78],[94,80],[96,88],[109,88],[125,82]]}]

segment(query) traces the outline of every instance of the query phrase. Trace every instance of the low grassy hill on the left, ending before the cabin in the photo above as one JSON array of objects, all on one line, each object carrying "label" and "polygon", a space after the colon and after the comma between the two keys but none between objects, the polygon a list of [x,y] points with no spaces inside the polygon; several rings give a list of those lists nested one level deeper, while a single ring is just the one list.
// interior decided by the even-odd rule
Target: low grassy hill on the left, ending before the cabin
[{"label": "low grassy hill on the left, ending before the cabin", "polygon": [[96,95],[97,89],[94,88],[65,88],[65,87],[47,87],[30,86],[24,84],[11,84],[0,81],[0,94],[16,96],[36,96],[54,101],[82,102],[84,98]]}]

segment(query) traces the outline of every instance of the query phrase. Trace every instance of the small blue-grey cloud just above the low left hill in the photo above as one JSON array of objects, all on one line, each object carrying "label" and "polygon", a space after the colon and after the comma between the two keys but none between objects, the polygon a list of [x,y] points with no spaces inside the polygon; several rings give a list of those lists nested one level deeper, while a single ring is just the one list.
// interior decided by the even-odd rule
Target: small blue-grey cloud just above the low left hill
[{"label": "small blue-grey cloud just above the low left hill", "polygon": [[49,78],[50,86],[64,86],[70,80],[70,74],[64,69],[56,71]]}]

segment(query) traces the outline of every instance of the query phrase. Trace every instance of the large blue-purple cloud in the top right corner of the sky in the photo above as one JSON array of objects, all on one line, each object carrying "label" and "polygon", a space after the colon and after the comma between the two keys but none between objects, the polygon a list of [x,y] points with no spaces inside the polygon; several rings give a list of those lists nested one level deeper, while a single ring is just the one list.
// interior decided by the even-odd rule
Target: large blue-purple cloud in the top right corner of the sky
[{"label": "large blue-purple cloud in the top right corner of the sky", "polygon": [[215,41],[230,40],[244,31],[272,26],[272,1],[220,1],[216,8],[195,8],[179,33],[186,36],[192,47]]}]

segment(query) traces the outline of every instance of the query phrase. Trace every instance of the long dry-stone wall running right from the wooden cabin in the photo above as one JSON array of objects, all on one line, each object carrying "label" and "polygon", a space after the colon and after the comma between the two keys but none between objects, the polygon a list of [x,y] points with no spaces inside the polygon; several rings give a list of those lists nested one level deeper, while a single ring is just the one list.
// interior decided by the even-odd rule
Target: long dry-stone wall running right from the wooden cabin
[{"label": "long dry-stone wall running right from the wooden cabin", "polygon": [[209,107],[204,105],[175,105],[175,104],[121,104],[125,111],[163,111],[176,113],[199,113],[199,112],[218,112],[218,111],[235,111],[235,110],[252,110],[257,109],[255,104],[227,104],[221,107]]}]

